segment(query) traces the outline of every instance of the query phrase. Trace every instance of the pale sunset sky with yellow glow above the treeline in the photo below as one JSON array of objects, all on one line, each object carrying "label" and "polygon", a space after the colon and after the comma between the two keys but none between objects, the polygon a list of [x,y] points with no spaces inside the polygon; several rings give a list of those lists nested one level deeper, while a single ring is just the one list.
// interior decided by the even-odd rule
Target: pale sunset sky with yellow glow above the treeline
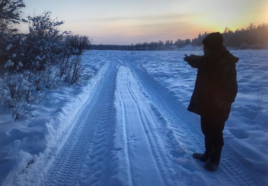
[{"label": "pale sunset sky with yellow glow above the treeline", "polygon": [[[24,0],[24,16],[52,11],[61,30],[94,44],[136,44],[268,23],[267,0]],[[21,30],[26,31],[25,26]]]}]

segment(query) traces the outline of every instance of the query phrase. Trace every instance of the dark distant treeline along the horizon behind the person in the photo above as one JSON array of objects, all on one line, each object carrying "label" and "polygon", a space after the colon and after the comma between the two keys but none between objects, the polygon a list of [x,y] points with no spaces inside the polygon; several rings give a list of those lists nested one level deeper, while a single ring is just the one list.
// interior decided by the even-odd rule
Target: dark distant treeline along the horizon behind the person
[{"label": "dark distant treeline along the horizon behind the person", "polygon": [[[144,42],[136,45],[91,45],[91,49],[95,50],[174,50],[188,45],[202,46],[202,40],[210,33],[205,32],[190,40],[181,40],[173,42],[166,40],[165,43],[161,40],[158,42]],[[224,38],[224,45],[227,47],[234,47],[240,49],[267,49],[268,48],[268,24],[255,26],[253,23],[244,29],[237,29],[236,31],[225,28],[222,33]]]}]

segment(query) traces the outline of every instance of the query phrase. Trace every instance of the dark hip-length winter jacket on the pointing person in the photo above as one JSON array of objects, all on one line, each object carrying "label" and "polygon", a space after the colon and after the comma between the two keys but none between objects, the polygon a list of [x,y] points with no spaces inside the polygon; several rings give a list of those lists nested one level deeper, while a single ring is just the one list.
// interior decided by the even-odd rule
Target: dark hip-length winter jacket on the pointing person
[{"label": "dark hip-length winter jacket on the pointing person", "polygon": [[197,78],[188,111],[216,116],[226,121],[237,94],[236,62],[225,47],[214,58],[191,55],[187,62],[197,68]]}]

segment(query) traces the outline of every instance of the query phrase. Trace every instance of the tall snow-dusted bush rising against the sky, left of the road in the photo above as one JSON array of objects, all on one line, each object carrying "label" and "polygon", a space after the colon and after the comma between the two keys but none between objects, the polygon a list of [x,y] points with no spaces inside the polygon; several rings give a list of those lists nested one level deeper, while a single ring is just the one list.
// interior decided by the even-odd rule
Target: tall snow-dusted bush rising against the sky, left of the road
[{"label": "tall snow-dusted bush rising against the sky, left of the road", "polygon": [[53,72],[65,50],[65,37],[69,32],[60,33],[58,27],[63,21],[51,19],[51,12],[40,16],[28,16],[29,33],[22,40],[24,54],[22,64],[30,72],[29,81],[36,90],[50,89],[58,79]]}]

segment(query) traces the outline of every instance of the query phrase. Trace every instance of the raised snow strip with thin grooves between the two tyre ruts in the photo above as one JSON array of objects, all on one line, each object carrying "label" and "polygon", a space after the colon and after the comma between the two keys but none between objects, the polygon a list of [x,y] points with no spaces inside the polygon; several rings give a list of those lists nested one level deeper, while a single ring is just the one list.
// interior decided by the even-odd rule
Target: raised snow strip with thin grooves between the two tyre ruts
[{"label": "raised snow strip with thin grooves between the two tyre ruts", "polygon": [[[169,158],[164,149],[163,122],[151,109],[132,72],[121,66],[118,72],[118,98],[116,125],[124,123],[125,165],[129,165],[128,176],[133,185],[171,185],[176,183]],[[117,94],[116,94],[117,95]],[[155,121],[156,120],[156,121]],[[158,121],[157,121],[158,120]],[[119,142],[117,142],[119,143]],[[121,142],[122,143],[122,142]],[[120,149],[121,150],[121,149]],[[117,152],[118,154],[120,152]],[[122,163],[118,162],[118,165]],[[171,175],[171,177],[170,177]]]}]

